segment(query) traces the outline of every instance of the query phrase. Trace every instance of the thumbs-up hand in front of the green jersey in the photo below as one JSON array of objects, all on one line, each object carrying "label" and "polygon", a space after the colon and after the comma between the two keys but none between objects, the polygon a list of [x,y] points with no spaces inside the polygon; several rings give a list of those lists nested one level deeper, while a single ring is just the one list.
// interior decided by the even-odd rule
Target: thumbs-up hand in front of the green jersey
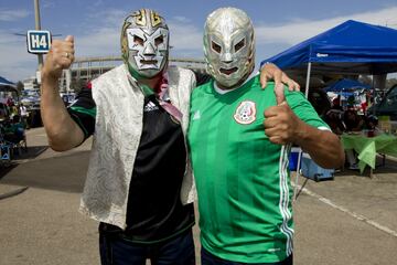
[{"label": "thumbs-up hand in front of the green jersey", "polygon": [[282,89],[275,89],[277,106],[269,107],[265,110],[265,134],[273,144],[286,145],[296,142],[296,138],[301,130],[302,121],[292,112],[286,102]]}]

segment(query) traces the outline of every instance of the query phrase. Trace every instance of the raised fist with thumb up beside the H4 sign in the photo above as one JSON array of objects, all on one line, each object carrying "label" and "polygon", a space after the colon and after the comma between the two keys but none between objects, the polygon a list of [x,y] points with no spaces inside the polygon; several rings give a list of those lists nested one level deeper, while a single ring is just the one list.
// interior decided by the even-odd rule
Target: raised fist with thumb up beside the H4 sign
[{"label": "raised fist with thumb up beside the H4 sign", "polygon": [[62,71],[68,68],[75,56],[74,38],[67,35],[65,40],[54,40],[46,55],[42,76],[60,78]]}]

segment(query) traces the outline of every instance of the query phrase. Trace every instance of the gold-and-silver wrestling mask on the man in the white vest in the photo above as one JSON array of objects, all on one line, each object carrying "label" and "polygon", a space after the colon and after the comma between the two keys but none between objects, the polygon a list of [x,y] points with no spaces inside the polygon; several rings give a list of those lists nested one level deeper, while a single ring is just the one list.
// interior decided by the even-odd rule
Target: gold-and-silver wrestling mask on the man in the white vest
[{"label": "gold-and-silver wrestling mask on the man in the white vest", "polygon": [[122,25],[121,54],[133,77],[151,78],[168,65],[169,29],[155,11],[141,9]]}]

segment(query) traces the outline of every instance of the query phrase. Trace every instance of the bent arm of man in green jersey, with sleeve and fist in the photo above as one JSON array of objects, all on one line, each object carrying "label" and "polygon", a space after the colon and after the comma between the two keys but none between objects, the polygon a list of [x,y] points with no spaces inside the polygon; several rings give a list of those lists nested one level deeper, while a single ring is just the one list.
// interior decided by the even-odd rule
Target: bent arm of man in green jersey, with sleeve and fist
[{"label": "bent arm of man in green jersey, with sleeve and fist", "polygon": [[[323,168],[340,168],[344,163],[344,150],[339,137],[320,119],[313,107],[299,93],[300,104],[281,100],[266,109],[265,132],[275,144],[296,144]],[[300,117],[299,117],[300,116]],[[323,125],[323,126],[322,126]]]}]

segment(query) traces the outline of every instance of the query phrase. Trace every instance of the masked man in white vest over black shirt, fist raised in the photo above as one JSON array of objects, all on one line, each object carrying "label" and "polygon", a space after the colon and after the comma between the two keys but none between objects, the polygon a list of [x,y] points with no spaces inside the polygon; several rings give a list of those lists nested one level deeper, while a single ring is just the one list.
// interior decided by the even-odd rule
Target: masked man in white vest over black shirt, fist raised
[{"label": "masked man in white vest over black shirt, fist raised", "polygon": [[[41,114],[54,150],[94,135],[79,211],[100,223],[101,263],[195,264],[196,194],[185,136],[196,78],[168,66],[164,19],[148,9],[130,13],[121,30],[124,64],[89,83],[66,108],[57,85],[74,53],[73,36],[53,41],[42,71]],[[297,87],[275,65],[262,73]]]}]

